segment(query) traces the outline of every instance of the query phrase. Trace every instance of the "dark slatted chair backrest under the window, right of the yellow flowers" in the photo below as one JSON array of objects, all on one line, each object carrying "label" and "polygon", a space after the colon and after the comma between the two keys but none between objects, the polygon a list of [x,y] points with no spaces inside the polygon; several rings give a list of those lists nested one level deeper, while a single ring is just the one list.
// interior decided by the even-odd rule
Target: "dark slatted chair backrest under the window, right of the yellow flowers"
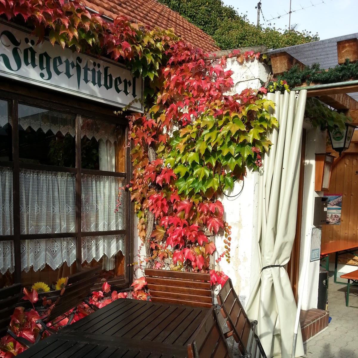
[{"label": "dark slatted chair backrest under the window, right of the yellow flowers", "polygon": [[91,287],[100,279],[100,271],[101,266],[97,266],[68,276],[45,321],[52,321],[82,303],[91,294]]}]

